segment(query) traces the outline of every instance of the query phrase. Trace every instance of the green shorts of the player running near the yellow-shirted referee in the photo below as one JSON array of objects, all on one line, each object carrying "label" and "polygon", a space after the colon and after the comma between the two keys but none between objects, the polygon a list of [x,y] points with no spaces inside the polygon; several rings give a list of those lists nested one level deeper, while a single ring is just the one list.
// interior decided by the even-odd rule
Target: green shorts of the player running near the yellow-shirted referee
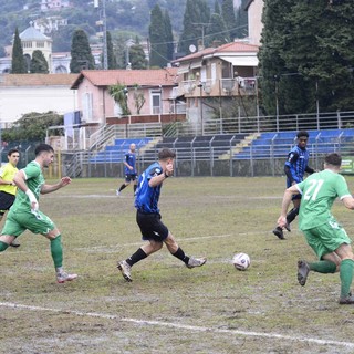
[{"label": "green shorts of the player running near the yellow-shirted referee", "polygon": [[9,211],[1,235],[20,236],[25,230],[33,233],[46,235],[55,229],[54,222],[41,211]]}]

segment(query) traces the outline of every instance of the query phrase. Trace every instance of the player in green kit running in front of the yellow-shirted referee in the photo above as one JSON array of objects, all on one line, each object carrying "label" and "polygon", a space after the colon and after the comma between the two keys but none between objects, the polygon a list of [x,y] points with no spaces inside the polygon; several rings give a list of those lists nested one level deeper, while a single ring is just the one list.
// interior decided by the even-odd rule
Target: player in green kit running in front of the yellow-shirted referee
[{"label": "player in green kit running in front of the yellow-shirted referee", "polygon": [[63,270],[63,249],[61,233],[54,222],[39,210],[40,194],[55,191],[71,183],[70,177],[63,177],[55,185],[45,184],[42,169],[53,163],[54,150],[50,145],[40,144],[35,147],[35,159],[19,170],[13,181],[18,187],[15,200],[10,208],[0,236],[0,252],[4,251],[13,240],[30,230],[41,233],[51,242],[51,254],[56,271],[56,281],[64,283],[77,274],[69,274]]}]

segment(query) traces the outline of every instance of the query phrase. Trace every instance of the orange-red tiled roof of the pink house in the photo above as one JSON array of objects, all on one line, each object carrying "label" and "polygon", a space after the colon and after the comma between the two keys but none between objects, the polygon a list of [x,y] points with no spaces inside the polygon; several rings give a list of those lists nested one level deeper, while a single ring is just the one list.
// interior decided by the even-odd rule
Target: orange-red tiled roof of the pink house
[{"label": "orange-red tiled roof of the pink house", "polygon": [[84,70],[76,77],[71,88],[77,88],[86,77],[95,86],[110,86],[117,83],[126,86],[173,86],[177,80],[177,69],[156,70]]}]

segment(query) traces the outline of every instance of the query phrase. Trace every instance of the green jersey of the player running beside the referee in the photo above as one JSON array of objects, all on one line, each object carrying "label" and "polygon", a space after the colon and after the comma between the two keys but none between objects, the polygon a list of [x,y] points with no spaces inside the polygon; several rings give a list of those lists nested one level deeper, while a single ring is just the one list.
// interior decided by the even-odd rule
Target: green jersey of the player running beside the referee
[{"label": "green jersey of the player running beside the referee", "polygon": [[[34,194],[37,200],[40,198],[40,191],[42,185],[45,183],[41,166],[37,162],[29,163],[22,171],[25,176],[25,183],[29,189]],[[25,192],[18,188],[14,202],[11,207],[14,212],[29,211],[31,210],[31,202]]]}]

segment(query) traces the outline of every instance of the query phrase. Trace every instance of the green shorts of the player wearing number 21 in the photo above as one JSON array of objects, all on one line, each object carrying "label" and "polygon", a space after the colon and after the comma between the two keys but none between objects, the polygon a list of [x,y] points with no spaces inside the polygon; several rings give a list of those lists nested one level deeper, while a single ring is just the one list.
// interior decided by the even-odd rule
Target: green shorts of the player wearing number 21
[{"label": "green shorts of the player wearing number 21", "polygon": [[334,219],[313,229],[302,231],[309,246],[320,260],[324,254],[335,251],[341,244],[351,244],[352,242],[345,230]]}]

